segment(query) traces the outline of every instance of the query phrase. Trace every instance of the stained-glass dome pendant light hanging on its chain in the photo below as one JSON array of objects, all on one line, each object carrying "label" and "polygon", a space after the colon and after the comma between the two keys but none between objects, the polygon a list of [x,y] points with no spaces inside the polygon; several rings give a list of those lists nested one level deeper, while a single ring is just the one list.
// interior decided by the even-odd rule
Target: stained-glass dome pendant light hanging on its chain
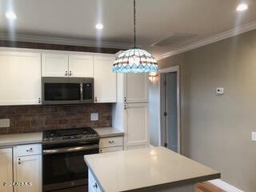
[{"label": "stained-glass dome pendant light hanging on its chain", "polygon": [[134,0],[134,48],[118,54],[113,64],[113,71],[117,73],[149,73],[157,70],[158,62],[152,54],[136,47],[136,2]]}]

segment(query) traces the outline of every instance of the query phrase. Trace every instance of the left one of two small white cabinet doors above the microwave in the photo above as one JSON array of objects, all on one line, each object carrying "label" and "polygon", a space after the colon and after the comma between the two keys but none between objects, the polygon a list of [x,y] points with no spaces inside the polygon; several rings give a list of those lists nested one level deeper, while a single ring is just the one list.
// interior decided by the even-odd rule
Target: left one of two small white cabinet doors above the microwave
[{"label": "left one of two small white cabinet doors above the microwave", "polygon": [[68,54],[42,54],[42,77],[67,77]]}]

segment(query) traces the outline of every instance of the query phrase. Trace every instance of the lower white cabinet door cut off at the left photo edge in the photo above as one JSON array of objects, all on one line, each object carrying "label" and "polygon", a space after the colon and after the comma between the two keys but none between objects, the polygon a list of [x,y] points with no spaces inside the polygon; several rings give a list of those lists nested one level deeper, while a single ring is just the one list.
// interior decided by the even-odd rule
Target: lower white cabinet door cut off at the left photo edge
[{"label": "lower white cabinet door cut off at the left photo edge", "polygon": [[0,191],[12,192],[13,186],[3,186],[3,182],[13,182],[13,150],[0,149]]}]

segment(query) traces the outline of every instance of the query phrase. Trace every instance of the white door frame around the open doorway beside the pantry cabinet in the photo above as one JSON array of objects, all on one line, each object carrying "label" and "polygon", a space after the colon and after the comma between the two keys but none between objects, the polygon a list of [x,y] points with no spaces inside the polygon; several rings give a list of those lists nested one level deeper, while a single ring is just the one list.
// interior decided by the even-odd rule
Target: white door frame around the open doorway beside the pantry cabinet
[{"label": "white door frame around the open doorway beside the pantry cabinet", "polygon": [[170,66],[167,68],[164,68],[162,70],[159,70],[159,98],[160,98],[160,113],[159,113],[159,122],[160,122],[160,126],[159,126],[159,144],[161,146],[164,146],[164,137],[166,137],[166,135],[164,135],[165,133],[163,132],[163,99],[164,99],[164,86],[163,86],[163,82],[162,82],[162,78],[161,78],[161,74],[168,74],[171,72],[177,72],[177,126],[178,126],[178,153],[181,153],[181,120],[180,120],[180,74],[179,74],[179,66]]}]

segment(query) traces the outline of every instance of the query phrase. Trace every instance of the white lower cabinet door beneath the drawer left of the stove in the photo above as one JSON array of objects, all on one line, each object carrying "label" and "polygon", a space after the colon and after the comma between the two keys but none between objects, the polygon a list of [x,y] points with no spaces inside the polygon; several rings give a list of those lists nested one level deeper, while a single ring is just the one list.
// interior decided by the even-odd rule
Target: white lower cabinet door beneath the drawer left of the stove
[{"label": "white lower cabinet door beneath the drawer left of the stove", "polygon": [[17,181],[31,182],[31,186],[17,186],[16,192],[41,192],[42,191],[42,156],[30,155],[18,157]]}]

